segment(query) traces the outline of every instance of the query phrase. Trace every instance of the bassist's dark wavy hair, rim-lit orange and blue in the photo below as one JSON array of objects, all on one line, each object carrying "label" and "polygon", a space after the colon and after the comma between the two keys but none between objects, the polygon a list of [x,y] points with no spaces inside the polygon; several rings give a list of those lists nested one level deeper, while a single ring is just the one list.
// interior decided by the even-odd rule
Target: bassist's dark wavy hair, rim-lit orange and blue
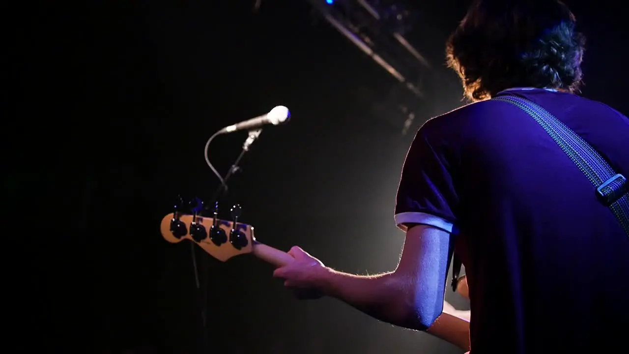
[{"label": "bassist's dark wavy hair, rim-lit orange and blue", "polygon": [[447,42],[472,101],[514,87],[578,91],[585,37],[557,0],[477,0]]}]

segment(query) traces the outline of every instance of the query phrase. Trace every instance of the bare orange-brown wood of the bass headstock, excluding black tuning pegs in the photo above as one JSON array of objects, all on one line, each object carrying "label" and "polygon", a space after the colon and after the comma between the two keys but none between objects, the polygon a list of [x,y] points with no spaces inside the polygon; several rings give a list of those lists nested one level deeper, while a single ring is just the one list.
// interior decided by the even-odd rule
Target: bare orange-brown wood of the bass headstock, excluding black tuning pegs
[{"label": "bare orange-brown wood of the bass headstock, excluding black tuning pegs", "polygon": [[[193,215],[180,215],[177,213],[177,218],[175,218],[174,213],[170,213],[162,219],[162,223],[160,225],[160,231],[162,232],[162,237],[170,243],[179,243],[184,239],[190,240],[203,248],[204,251],[209,253],[211,256],[220,261],[229,260],[233,256],[238,256],[238,254],[252,253],[253,252],[253,243],[255,243],[255,237],[253,236],[253,226],[242,224],[238,222],[236,224],[236,230],[242,232],[242,244],[234,244],[230,242],[230,232],[233,227],[232,221],[226,220],[216,220],[216,226],[220,227],[225,232],[226,240],[224,243],[214,243],[212,239],[209,237],[209,233],[211,227],[214,225],[214,219],[211,217],[202,217],[198,216],[194,220],[198,226],[203,226],[203,229],[206,232],[206,237],[203,239],[198,238],[199,241],[195,240],[191,236],[192,229],[192,220],[195,219]],[[176,232],[177,221],[182,224],[178,224],[179,227],[183,225],[185,227],[186,234],[181,237],[175,236],[174,232]],[[246,241],[246,242],[245,242]],[[239,247],[240,246],[240,247]]]}]

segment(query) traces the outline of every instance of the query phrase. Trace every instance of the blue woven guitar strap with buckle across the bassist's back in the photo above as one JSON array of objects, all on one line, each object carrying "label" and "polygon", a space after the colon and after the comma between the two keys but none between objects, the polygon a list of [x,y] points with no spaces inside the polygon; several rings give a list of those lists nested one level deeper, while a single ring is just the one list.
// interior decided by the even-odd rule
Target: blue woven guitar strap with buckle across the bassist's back
[{"label": "blue woven guitar strap with buckle across the bassist's back", "polygon": [[[552,137],[577,168],[592,183],[599,202],[609,207],[629,237],[629,183],[625,176],[616,173],[585,140],[560,122],[542,106],[518,96],[498,96],[493,100],[511,103],[530,115]],[[456,291],[461,262],[454,254],[452,260],[452,287]]]}]

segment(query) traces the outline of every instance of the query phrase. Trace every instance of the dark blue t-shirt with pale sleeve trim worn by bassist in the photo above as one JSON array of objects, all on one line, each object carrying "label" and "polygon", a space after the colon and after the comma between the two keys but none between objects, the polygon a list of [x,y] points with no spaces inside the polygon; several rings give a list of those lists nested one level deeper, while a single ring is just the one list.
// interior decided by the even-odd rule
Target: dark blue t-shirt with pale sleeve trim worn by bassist
[{"label": "dark blue t-shirt with pale sleeve trim worn by bassist", "polygon": [[[629,177],[629,120],[618,111],[545,89],[501,94],[543,106]],[[472,354],[626,350],[629,237],[520,108],[481,101],[426,122],[406,156],[395,214],[398,226],[457,234]]]}]

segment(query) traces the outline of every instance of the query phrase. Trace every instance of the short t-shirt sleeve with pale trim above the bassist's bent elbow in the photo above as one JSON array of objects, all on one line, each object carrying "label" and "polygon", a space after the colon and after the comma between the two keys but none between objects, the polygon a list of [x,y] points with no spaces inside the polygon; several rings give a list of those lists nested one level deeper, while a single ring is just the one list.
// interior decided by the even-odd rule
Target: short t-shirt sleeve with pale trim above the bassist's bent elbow
[{"label": "short t-shirt sleeve with pale trim above the bassist's bent elbow", "polygon": [[424,224],[455,233],[454,210],[459,198],[450,176],[454,166],[447,161],[444,144],[433,146],[422,130],[404,160],[396,196],[396,226],[406,231],[409,225]]}]

